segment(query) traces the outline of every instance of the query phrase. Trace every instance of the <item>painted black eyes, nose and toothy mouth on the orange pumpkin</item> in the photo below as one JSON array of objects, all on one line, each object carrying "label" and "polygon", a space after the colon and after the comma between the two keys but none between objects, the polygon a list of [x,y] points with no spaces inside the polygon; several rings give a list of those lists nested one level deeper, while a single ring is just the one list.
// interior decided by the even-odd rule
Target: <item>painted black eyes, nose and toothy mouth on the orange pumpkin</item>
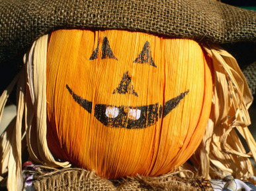
[{"label": "painted black eyes, nose and toothy mouth on the orange pumpkin", "polygon": [[[89,60],[97,59],[99,56],[99,43],[93,54],[89,58]],[[115,59],[118,60],[114,53],[112,52],[107,37],[103,40],[102,45],[102,57],[101,59]],[[157,67],[153,62],[151,57],[150,45],[149,42],[146,41],[140,55],[133,61],[133,63],[138,64],[148,64],[152,67]],[[87,101],[87,99],[83,99],[79,95],[75,94],[69,86],[66,85],[69,94],[73,97],[73,99],[81,105],[86,111],[91,113],[92,111],[92,102]],[[158,119],[161,117],[165,117],[168,115],[171,110],[173,110],[181,99],[185,97],[189,93],[189,90],[181,93],[177,97],[166,101],[165,104],[159,105],[159,103],[155,103],[152,105],[143,105],[138,107],[130,107],[130,106],[116,106],[116,105],[105,105],[105,104],[96,104],[94,108],[94,116],[97,120],[103,123],[105,126],[119,127],[119,128],[146,128],[147,126],[151,126],[155,124]],[[133,94],[135,96],[139,96],[138,93],[134,90],[132,86],[131,77],[126,71],[120,81],[118,87],[112,92],[112,94]]]}]

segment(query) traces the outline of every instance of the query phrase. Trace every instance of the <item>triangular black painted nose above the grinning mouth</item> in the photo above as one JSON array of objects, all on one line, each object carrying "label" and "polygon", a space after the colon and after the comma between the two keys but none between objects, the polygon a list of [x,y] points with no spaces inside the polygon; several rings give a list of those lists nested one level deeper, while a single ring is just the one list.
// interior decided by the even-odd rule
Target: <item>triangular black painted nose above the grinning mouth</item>
[{"label": "triangular black painted nose above the grinning mouth", "polygon": [[128,71],[122,76],[122,80],[118,87],[114,90],[113,94],[134,94],[138,96],[138,93],[134,91],[134,86],[132,86],[131,77],[128,74]]}]

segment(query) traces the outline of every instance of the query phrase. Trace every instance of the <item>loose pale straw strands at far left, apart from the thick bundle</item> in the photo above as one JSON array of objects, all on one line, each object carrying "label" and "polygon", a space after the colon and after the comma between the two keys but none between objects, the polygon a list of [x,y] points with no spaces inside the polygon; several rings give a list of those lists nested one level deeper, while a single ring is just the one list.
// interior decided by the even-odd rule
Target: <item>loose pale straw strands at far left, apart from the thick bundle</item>
[{"label": "loose pale straw strands at far left, apart from the thick bundle", "polygon": [[[19,76],[21,76],[23,70],[17,74],[14,78],[13,82],[7,87],[7,89],[3,92],[0,97],[0,120],[3,115],[3,109],[7,102],[9,95],[11,94],[15,84],[17,84],[17,80],[19,80]],[[19,83],[21,85],[21,83]],[[18,111],[21,111],[21,101],[23,101],[23,94],[19,89],[17,89],[17,93],[19,93],[19,103],[18,103]],[[21,118],[22,114],[17,117],[17,122],[15,125],[15,131],[12,128],[7,128],[4,130],[3,134],[1,134],[1,174],[7,172],[10,178],[7,180],[7,184],[9,185],[7,188],[9,190],[21,190],[22,188],[22,175],[21,175]],[[20,128],[20,129],[19,129]],[[11,136],[9,135],[11,133]],[[13,184],[15,182],[15,184]]]}]

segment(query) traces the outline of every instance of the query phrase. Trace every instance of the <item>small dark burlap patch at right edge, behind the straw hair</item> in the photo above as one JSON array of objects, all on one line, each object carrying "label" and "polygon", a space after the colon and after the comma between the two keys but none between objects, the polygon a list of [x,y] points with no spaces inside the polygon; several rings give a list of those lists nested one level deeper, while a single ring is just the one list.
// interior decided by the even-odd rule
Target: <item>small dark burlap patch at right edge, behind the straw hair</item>
[{"label": "small dark burlap patch at right edge, behind the straw hair", "polygon": [[245,68],[243,74],[245,75],[251,94],[256,94],[256,61]]}]

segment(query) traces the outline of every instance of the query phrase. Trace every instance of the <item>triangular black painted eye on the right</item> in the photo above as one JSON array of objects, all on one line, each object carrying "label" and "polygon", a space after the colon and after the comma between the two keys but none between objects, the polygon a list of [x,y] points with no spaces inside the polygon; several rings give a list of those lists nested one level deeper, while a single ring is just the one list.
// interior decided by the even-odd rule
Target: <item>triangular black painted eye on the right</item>
[{"label": "triangular black painted eye on the right", "polygon": [[134,60],[134,63],[140,63],[140,64],[148,63],[149,65],[156,67],[151,57],[151,50],[150,50],[150,45],[148,41],[146,41],[146,43],[144,44],[144,47],[140,52],[140,55],[138,56],[137,59]]}]

